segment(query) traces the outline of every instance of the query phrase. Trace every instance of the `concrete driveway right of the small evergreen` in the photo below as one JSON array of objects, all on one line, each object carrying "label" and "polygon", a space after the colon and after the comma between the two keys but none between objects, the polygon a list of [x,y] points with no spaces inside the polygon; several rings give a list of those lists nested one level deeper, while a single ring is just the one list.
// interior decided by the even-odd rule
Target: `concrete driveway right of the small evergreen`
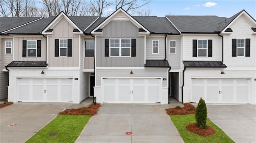
[{"label": "concrete driveway right of the small evergreen", "polygon": [[256,143],[256,105],[207,104],[208,118],[236,143]]}]

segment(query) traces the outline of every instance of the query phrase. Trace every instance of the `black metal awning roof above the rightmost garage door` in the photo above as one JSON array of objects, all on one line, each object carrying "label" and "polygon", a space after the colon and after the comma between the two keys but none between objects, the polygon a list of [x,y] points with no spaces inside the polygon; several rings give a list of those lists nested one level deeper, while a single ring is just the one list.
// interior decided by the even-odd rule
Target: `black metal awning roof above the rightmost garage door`
[{"label": "black metal awning roof above the rightmost garage door", "polygon": [[221,61],[183,61],[187,68],[226,68]]}]

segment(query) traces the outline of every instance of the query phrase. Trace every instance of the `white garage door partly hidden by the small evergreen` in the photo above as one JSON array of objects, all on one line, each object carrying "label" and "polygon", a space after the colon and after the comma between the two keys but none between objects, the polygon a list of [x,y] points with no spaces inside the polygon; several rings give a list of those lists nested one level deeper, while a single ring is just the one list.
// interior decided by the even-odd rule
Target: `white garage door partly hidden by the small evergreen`
[{"label": "white garage door partly hidden by the small evergreen", "polygon": [[206,103],[250,103],[250,79],[192,78],[191,102],[202,97]]}]

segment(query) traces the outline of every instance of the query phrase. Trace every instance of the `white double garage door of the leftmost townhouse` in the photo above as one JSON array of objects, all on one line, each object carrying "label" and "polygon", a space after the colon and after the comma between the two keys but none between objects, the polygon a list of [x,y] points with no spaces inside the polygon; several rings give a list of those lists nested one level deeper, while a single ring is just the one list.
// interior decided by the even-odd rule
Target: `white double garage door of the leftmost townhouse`
[{"label": "white double garage door of the leftmost townhouse", "polygon": [[18,78],[18,102],[72,102],[72,78]]}]

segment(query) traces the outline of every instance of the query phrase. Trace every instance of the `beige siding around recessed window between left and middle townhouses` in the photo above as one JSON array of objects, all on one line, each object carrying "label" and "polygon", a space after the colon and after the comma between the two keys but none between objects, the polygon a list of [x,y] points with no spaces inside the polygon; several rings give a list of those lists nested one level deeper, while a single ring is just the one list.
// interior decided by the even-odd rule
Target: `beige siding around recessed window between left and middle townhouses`
[{"label": "beige siding around recessed window between left and middle townhouses", "polygon": [[[84,38],[84,41],[94,41],[94,38]],[[84,45],[83,41],[83,45]],[[95,45],[94,45],[95,49]],[[85,46],[83,47],[84,69],[94,69],[94,57],[85,57]]]}]

